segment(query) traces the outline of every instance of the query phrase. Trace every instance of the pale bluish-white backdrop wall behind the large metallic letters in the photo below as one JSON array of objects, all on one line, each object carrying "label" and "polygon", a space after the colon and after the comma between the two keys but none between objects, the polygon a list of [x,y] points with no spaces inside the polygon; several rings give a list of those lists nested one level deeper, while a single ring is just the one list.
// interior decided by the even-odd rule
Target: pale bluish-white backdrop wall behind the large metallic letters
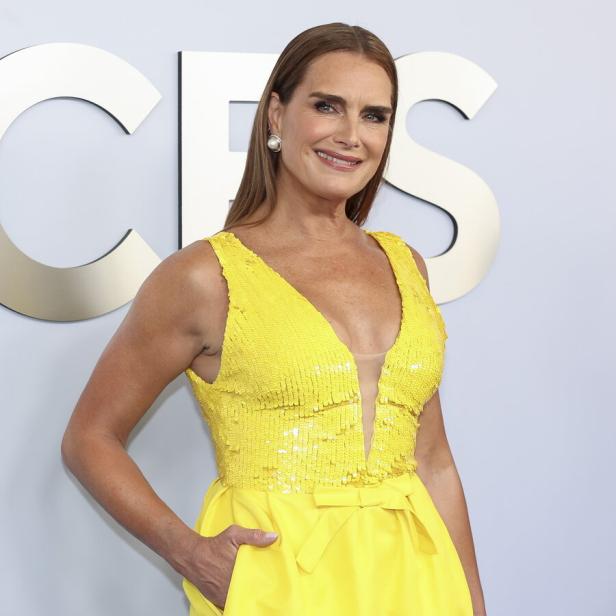
[{"label": "pale bluish-white backdrop wall behind the large metallic letters", "polygon": [[[355,0],[336,9],[5,1],[0,56],[47,42],[95,45],[142,71],[163,98],[133,135],[81,100],[25,111],[0,143],[0,224],[30,257],[57,267],[98,258],[129,228],[161,258],[177,250],[180,50],[280,53],[305,28],[345,21],[374,31],[394,57],[448,51],[476,62],[498,89],[472,121],[425,102],[407,128],[473,169],[499,202],[491,270],[441,305],[441,401],[488,614],[612,615],[614,17],[607,0]],[[232,109],[230,149],[246,148],[254,108]],[[366,227],[399,233],[424,257],[455,233],[443,211],[390,186]],[[0,306],[2,616],[187,613],[179,575],[60,458],[70,413],[127,309],[56,323]],[[129,453],[192,525],[216,469],[183,375],[144,417]]]}]

